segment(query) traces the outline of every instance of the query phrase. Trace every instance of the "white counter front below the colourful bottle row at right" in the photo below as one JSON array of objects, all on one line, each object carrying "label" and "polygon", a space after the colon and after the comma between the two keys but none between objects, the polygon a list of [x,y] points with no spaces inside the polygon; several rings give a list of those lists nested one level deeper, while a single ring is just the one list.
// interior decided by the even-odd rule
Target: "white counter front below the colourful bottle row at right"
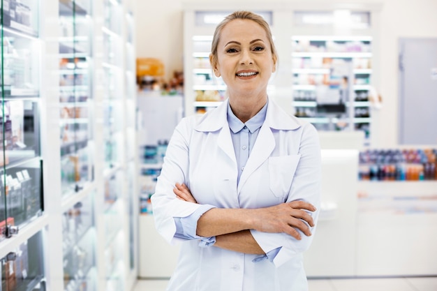
[{"label": "white counter front below the colourful bottle row at right", "polygon": [[357,276],[436,276],[437,181],[359,181]]}]

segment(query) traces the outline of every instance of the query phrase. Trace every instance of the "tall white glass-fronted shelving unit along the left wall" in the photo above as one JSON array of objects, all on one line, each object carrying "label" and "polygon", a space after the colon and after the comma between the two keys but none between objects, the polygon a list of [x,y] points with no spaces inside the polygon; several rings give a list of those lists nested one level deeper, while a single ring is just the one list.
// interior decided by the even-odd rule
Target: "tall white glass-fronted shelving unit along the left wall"
[{"label": "tall white glass-fronted shelving unit along the left wall", "polygon": [[[6,211],[0,222],[18,226],[0,239],[2,267],[15,270],[3,287],[131,290],[138,271],[133,1],[29,0],[17,6],[22,18],[14,18],[10,6],[1,27],[15,58],[9,61],[2,51],[9,62],[1,65],[12,76],[2,82],[2,110],[13,113],[11,133],[18,137],[2,142],[2,152],[10,150],[2,173],[10,178],[1,187]],[[119,82],[105,87],[114,71]],[[105,115],[112,105],[105,100],[112,98],[118,101],[116,126],[114,115]],[[107,128],[114,128],[109,139]],[[117,140],[117,149],[104,151],[108,140]],[[117,157],[112,167],[105,152]],[[110,201],[106,194],[116,190],[117,201]],[[10,200],[17,193],[22,200]]]}]

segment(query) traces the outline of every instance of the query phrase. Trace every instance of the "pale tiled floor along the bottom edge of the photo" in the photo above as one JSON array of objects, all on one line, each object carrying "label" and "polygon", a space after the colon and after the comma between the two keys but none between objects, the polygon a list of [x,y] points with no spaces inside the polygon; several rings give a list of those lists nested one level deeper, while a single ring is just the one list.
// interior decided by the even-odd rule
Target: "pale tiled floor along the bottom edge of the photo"
[{"label": "pale tiled floor along the bottom edge of the photo", "polygon": [[[166,280],[140,280],[132,291],[165,291]],[[310,280],[309,291],[437,291],[437,277]]]}]

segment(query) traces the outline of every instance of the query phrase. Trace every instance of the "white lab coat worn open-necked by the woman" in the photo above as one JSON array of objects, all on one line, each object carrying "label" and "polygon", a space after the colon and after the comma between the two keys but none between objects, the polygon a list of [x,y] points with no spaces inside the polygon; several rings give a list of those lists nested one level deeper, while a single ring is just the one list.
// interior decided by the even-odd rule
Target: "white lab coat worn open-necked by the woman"
[{"label": "white lab coat worn open-necked by the woman", "polygon": [[[193,213],[199,204],[221,208],[260,208],[305,200],[320,208],[320,145],[316,129],[292,117],[272,100],[237,187],[237,162],[226,119],[228,100],[203,116],[182,119],[168,144],[156,193],[152,195],[158,232],[170,243],[174,217]],[[199,204],[176,198],[175,183],[185,183]],[[317,222],[318,211],[313,213]],[[315,227],[311,231],[314,232]],[[184,241],[168,290],[305,291],[302,252],[312,237],[251,230],[266,253],[282,247],[273,262],[259,255],[201,248]],[[165,260],[165,253],[162,254]]]}]

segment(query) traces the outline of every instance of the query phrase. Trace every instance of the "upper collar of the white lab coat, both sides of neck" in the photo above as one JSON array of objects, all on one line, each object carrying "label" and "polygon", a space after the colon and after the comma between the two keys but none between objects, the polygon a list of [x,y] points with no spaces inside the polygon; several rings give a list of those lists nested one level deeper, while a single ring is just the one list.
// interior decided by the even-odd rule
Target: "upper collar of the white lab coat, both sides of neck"
[{"label": "upper collar of the white lab coat, both sides of neck", "polygon": [[[215,110],[207,112],[195,126],[195,130],[203,132],[213,132],[220,130],[224,126],[228,126],[227,121],[227,110],[228,110],[229,99],[223,101]],[[266,126],[276,130],[294,130],[299,128],[301,125],[297,119],[291,117],[289,114],[284,112],[274,101],[270,98],[268,99],[267,105],[267,115],[264,121]]]}]

